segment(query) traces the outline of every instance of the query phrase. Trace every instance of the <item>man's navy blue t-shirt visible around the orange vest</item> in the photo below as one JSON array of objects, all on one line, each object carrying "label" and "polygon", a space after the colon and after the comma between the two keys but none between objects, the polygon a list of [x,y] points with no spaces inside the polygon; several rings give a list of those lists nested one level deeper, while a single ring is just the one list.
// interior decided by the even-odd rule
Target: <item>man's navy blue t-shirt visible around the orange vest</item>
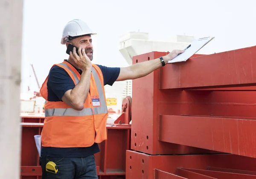
[{"label": "man's navy blue t-shirt visible around the orange vest", "polygon": [[[67,61],[67,60],[65,60]],[[97,65],[102,71],[104,78],[104,86],[113,83],[119,76],[120,68],[106,67]],[[76,68],[76,67],[75,67]],[[80,74],[81,70],[76,69]],[[75,84],[68,73],[59,66],[54,66],[49,72],[48,82],[48,101],[61,101],[62,96],[67,90],[73,89]],[[72,120],[72,119],[70,119]],[[53,129],[54,130],[54,129]],[[57,148],[57,147],[43,147],[41,149],[41,156],[52,157],[86,157],[99,152],[99,146],[94,143],[91,147],[77,147],[77,148]]]}]

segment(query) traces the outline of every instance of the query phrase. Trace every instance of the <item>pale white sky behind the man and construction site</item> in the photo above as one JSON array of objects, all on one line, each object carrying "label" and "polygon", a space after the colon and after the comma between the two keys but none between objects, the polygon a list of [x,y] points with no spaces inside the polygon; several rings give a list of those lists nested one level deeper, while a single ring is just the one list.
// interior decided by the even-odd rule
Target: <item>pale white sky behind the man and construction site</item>
[{"label": "pale white sky behind the man and construction site", "polygon": [[215,36],[203,54],[255,46],[255,8],[254,0],[24,0],[21,91],[28,85],[38,90],[30,63],[42,84],[49,68],[68,57],[60,41],[69,20],[84,20],[98,33],[93,63],[122,67],[128,64],[118,51],[119,36],[139,29],[150,40]]}]

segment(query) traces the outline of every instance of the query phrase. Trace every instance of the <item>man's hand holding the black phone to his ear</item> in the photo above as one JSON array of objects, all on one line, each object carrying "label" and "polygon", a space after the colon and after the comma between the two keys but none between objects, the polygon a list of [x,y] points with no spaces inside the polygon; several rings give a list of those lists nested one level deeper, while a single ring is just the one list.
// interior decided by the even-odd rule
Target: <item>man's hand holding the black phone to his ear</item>
[{"label": "man's hand holding the black phone to his ear", "polygon": [[85,50],[81,50],[81,46],[78,48],[78,54],[76,53],[76,48],[73,48],[73,52],[70,52],[70,57],[76,63],[79,69],[81,70],[91,70],[92,62],[90,58],[85,54]]}]

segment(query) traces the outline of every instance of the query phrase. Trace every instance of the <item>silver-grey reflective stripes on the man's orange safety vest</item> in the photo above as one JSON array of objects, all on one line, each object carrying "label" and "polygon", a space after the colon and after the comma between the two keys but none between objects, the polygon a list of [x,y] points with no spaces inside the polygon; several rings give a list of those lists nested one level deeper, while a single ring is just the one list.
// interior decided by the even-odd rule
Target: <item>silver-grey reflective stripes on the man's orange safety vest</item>
[{"label": "silver-grey reflective stripes on the man's orange safety vest", "polygon": [[[73,70],[70,69],[70,67],[67,64],[61,63],[60,65],[65,66],[67,69],[69,69],[73,73],[76,84],[78,84],[79,83],[79,78],[77,77],[76,73],[73,72]],[[102,90],[102,86],[101,86],[101,83],[100,83],[100,80],[99,80],[99,76],[98,76],[98,74],[97,74],[97,72],[94,68],[92,68],[92,74],[93,74],[93,78],[95,80],[96,87],[97,87],[97,90],[98,90],[98,93],[99,93],[99,100],[101,101],[101,106],[93,107],[94,114],[108,113],[108,108],[106,106],[105,97],[104,97],[104,94],[103,94],[103,90]],[[81,111],[74,110],[73,108],[46,109],[45,110],[45,117],[49,117],[49,116],[85,116],[85,115],[93,115],[93,111],[92,111],[91,108],[84,108]]]}]

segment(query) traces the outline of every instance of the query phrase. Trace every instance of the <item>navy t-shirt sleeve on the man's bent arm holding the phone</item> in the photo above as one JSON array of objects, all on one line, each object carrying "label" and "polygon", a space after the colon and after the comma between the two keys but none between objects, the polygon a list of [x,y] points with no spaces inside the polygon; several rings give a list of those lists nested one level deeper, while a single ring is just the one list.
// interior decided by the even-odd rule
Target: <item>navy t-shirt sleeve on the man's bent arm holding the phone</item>
[{"label": "navy t-shirt sleeve on the man's bent arm holding the phone", "polygon": [[61,100],[67,90],[75,87],[70,75],[61,67],[53,66],[49,72],[47,87]]}]

